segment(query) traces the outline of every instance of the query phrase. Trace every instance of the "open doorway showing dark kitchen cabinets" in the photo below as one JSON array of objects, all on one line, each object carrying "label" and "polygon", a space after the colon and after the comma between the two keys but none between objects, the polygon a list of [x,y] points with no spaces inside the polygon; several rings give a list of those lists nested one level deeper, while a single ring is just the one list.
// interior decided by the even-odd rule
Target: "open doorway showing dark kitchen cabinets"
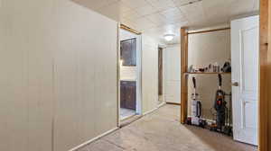
[{"label": "open doorway showing dark kitchen cabinets", "polygon": [[141,35],[119,31],[119,120],[141,115]]}]

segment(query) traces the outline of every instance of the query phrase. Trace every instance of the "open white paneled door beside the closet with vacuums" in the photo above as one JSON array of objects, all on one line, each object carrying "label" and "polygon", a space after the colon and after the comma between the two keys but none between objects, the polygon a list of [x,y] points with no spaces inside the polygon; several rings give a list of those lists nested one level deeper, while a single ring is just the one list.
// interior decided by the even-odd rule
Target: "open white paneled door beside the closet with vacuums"
[{"label": "open white paneled door beside the closet with vacuums", "polygon": [[235,140],[257,145],[259,17],[231,22],[232,107]]}]

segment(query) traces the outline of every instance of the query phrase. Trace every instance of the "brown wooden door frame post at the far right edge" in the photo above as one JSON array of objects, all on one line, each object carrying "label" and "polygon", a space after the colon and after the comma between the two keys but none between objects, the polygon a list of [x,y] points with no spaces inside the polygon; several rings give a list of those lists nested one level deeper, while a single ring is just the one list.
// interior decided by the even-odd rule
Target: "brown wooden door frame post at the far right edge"
[{"label": "brown wooden door frame post at the far right edge", "polygon": [[[270,150],[270,118],[268,108],[271,92],[268,84],[271,83],[270,77],[270,58],[271,58],[271,0],[260,0],[260,39],[259,39],[259,102],[258,102],[258,151]],[[268,34],[269,33],[269,34]],[[270,115],[269,115],[270,116]]]}]

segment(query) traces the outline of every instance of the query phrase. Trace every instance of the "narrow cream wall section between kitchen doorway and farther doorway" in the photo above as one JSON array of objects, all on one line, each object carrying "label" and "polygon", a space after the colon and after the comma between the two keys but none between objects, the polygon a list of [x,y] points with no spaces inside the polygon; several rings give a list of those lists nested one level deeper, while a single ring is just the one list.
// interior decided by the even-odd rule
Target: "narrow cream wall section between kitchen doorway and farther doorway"
[{"label": "narrow cream wall section between kitchen doorway and farther doorway", "polygon": [[158,42],[142,35],[142,99],[143,113],[158,106]]}]

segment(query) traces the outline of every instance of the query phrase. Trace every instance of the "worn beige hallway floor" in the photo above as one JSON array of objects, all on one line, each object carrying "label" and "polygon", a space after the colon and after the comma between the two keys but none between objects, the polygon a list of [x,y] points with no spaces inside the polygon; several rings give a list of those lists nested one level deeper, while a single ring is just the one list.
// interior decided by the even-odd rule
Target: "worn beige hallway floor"
[{"label": "worn beige hallway floor", "polygon": [[[256,151],[257,147],[178,121],[180,106],[165,105],[78,151]],[[196,145],[196,146],[195,146]]]}]

